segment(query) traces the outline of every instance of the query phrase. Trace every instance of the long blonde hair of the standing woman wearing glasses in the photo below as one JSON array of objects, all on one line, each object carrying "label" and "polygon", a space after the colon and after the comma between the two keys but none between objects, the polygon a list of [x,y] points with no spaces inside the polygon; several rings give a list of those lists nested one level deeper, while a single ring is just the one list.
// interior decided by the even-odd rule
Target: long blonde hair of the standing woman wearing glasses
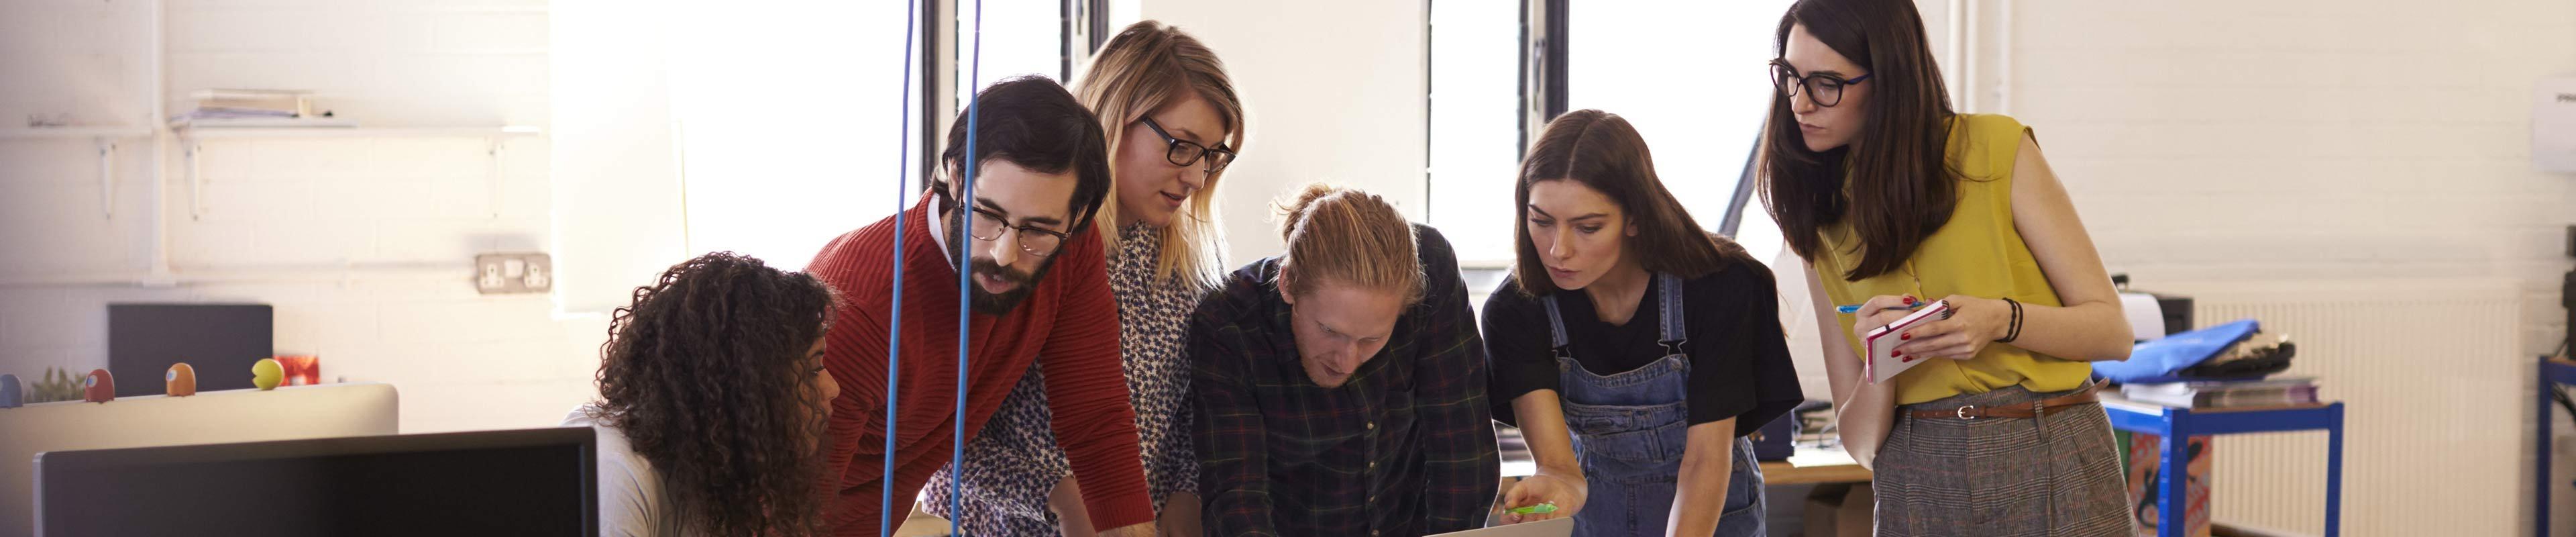
[{"label": "long blonde hair of the standing woman wearing glasses", "polygon": [[[1092,65],[1082,70],[1082,80],[1074,85],[1074,96],[1082,106],[1090,106],[1100,116],[1100,129],[1108,132],[1110,155],[1126,147],[1126,132],[1131,124],[1141,121],[1154,108],[1182,101],[1182,90],[1195,93],[1216,108],[1218,121],[1226,129],[1226,147],[1244,147],[1244,101],[1234,96],[1234,80],[1226,77],[1226,65],[1216,59],[1208,44],[1195,36],[1172,28],[1159,21],[1136,21],[1118,31]],[[1162,139],[1149,139],[1162,142]],[[1190,194],[1190,201],[1175,214],[1172,225],[1154,230],[1162,235],[1162,253],[1154,258],[1154,279],[1180,279],[1190,289],[1213,289],[1226,271],[1221,258],[1226,250],[1226,235],[1216,225],[1216,178],[1224,170],[1211,173],[1206,188]],[[1110,170],[1110,188],[1118,183],[1115,165]],[[1118,256],[1118,204],[1103,204],[1100,243],[1108,245],[1110,256]]]}]

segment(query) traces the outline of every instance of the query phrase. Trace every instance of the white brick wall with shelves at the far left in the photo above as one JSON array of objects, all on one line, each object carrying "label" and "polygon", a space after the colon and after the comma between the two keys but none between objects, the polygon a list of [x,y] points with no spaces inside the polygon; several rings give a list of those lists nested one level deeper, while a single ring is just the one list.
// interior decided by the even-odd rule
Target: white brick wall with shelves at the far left
[{"label": "white brick wall with shelves at the far left", "polygon": [[[67,108],[118,124],[116,106],[144,108],[144,80],[111,70],[147,62],[137,13],[8,3],[0,21],[0,67],[21,72],[0,80],[0,121]],[[544,124],[546,49],[541,0],[170,0],[162,98],[183,111],[198,88],[307,88],[363,127]],[[605,320],[556,318],[546,297],[479,297],[464,268],[484,250],[549,250],[546,139],[510,139],[497,181],[474,137],[206,139],[196,219],[173,145],[173,268],[263,284],[26,284],[144,268],[152,145],[121,147],[108,219],[88,139],[0,139],[0,372],[106,367],[108,302],[268,302],[281,354],[397,385],[402,431],[551,426],[590,398]]]}]

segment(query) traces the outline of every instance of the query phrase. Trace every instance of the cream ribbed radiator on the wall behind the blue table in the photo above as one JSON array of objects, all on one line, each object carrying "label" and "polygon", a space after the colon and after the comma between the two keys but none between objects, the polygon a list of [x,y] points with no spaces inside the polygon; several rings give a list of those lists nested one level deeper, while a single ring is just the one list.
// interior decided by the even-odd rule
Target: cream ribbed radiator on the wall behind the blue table
[{"label": "cream ribbed radiator on the wall behind the blue table", "polygon": [[[2344,400],[2347,534],[2524,534],[2532,356],[2509,281],[2190,287],[2195,323],[2290,336]],[[2213,519],[2324,534],[2326,434],[2218,436]]]}]

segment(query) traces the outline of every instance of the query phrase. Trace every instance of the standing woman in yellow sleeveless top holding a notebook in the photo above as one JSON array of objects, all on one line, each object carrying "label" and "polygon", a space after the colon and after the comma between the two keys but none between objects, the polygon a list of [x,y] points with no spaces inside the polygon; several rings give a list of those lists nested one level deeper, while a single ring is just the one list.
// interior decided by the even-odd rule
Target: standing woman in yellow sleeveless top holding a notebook
[{"label": "standing woman in yellow sleeveless top holding a notebook", "polygon": [[[1808,263],[1878,534],[2133,534],[2084,364],[2130,330],[2030,129],[1950,111],[1909,0],[1801,0],[1775,39],[1762,201]],[[1953,315],[1893,349],[1922,364],[1865,380],[1860,336],[1932,299]]]}]

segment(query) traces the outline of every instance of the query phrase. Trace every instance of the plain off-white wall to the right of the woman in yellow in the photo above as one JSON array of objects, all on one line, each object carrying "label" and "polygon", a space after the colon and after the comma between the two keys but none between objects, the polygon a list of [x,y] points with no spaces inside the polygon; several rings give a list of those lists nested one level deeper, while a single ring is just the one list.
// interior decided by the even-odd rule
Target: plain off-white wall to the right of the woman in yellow
[{"label": "plain off-white wall to the right of the woman in yellow", "polygon": [[[1986,5],[1991,31],[2002,3],[1973,5]],[[2576,3],[2020,0],[2012,8],[2009,103],[1994,93],[1989,49],[1973,111],[2002,108],[2038,129],[2105,263],[2136,274],[2141,289],[2514,281],[2527,292],[2524,356],[2550,351],[2566,333],[2558,281],[2571,266],[2563,227],[2576,225],[2576,176],[2532,170],[2530,85],[2576,72]],[[1996,46],[1991,36],[1984,41]],[[2530,372],[2460,372],[2445,382],[2527,385]],[[2357,413],[2442,413],[2465,431],[2530,436],[2527,408],[2419,403],[2432,400],[2352,400]],[[2576,441],[2561,452],[2566,444]],[[2530,475],[2530,452],[2409,457],[2421,465],[2347,467],[2347,475]],[[2460,491],[2352,483],[2344,491],[2352,534],[2450,534],[2476,524],[2530,532],[2530,478],[2506,488],[2514,493],[2486,480],[2463,485],[2509,503],[2483,514],[2522,519],[2476,516],[2476,524],[2455,519],[2468,514],[2370,509],[2421,506],[2427,493]],[[2571,496],[2563,478],[2550,483],[2558,498]],[[2568,501],[2555,511],[2566,519]],[[2306,524],[2285,529],[2318,529]],[[2576,534],[2576,524],[2561,522],[2553,534]]]}]

